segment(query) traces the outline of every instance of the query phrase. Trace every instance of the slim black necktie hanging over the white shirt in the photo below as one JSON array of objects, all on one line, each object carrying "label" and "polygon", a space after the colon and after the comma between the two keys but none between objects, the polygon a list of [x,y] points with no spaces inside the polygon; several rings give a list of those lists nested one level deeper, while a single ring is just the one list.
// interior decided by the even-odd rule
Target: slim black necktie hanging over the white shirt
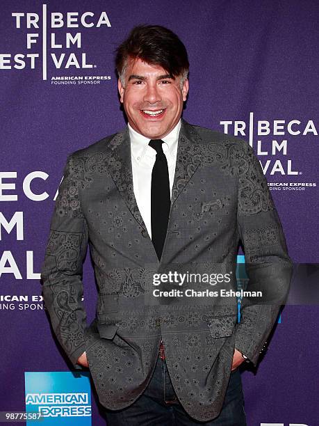
[{"label": "slim black necktie hanging over the white shirt", "polygon": [[151,139],[149,141],[149,146],[156,150],[156,160],[152,170],[151,225],[152,242],[158,260],[161,260],[168,216],[170,215],[170,178],[162,143],[161,139]]}]

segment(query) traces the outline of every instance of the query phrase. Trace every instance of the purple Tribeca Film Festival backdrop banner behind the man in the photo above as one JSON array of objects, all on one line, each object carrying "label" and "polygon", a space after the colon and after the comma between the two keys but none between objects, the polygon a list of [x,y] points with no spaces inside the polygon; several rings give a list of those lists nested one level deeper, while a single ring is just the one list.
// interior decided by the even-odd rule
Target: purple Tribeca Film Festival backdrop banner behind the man
[{"label": "purple Tribeca Film Festival backdrop banner behind the man", "polygon": [[[40,269],[67,156],[126,125],[117,45],[137,24],[177,33],[190,61],[183,117],[249,141],[295,274],[316,285],[318,2],[3,0],[0,16],[1,420],[40,411],[43,425],[105,425],[90,372],[52,336]],[[83,282],[90,324],[90,255]],[[258,368],[243,369],[248,425],[318,425],[317,313],[316,295],[289,303]]]}]

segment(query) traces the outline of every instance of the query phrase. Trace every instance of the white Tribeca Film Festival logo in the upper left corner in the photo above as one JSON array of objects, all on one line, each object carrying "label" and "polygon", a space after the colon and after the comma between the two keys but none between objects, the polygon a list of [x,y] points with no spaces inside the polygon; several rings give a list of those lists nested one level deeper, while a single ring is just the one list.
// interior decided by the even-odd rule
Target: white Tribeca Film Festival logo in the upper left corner
[{"label": "white Tribeca Film Festival logo in the upper left corner", "polygon": [[[24,29],[28,31],[26,33],[26,52],[13,54],[1,53],[0,70],[24,70],[26,68],[35,70],[42,66],[42,79],[47,80],[49,63],[53,64],[56,70],[97,68],[97,65],[89,63],[86,52],[81,52],[81,31],[74,32],[74,30],[71,30],[72,32],[56,33],[54,29],[111,27],[111,22],[106,12],[101,12],[98,15],[92,12],[48,13],[47,5],[43,4],[42,15],[30,12],[13,12],[11,15],[17,31]],[[42,36],[42,42],[40,42],[40,36]],[[50,54],[48,46],[52,50]],[[74,49],[75,52],[72,52]],[[94,80],[95,83],[99,83],[100,80],[111,79],[111,76],[72,77],[51,77],[51,84],[54,84],[54,81],[60,79]],[[72,81],[72,83],[74,82]]]}]

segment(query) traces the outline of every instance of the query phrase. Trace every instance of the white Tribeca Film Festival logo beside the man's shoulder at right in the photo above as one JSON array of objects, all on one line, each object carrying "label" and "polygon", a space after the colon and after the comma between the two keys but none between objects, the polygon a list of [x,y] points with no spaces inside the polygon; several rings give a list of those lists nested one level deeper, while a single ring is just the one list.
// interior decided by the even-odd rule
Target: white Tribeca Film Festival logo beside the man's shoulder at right
[{"label": "white Tribeca Film Festival logo beside the man's shoulder at right", "polygon": [[[259,157],[264,175],[289,176],[294,182],[269,182],[272,191],[304,191],[316,187],[316,182],[302,181],[302,171],[296,170],[293,159],[289,158],[289,141],[301,139],[303,136],[318,136],[313,120],[254,120],[250,112],[248,123],[242,120],[222,120],[220,125],[225,134],[234,134],[248,139]],[[254,141],[254,134],[257,140]]]}]

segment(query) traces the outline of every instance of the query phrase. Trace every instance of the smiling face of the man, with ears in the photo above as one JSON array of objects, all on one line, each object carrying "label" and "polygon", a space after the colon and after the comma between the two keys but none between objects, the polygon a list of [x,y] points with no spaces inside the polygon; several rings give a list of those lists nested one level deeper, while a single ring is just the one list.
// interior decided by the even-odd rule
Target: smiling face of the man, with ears
[{"label": "smiling face of the man, with ears", "polygon": [[161,139],[177,125],[188,93],[188,79],[181,87],[161,67],[140,59],[129,60],[118,89],[129,124],[149,139]]}]

